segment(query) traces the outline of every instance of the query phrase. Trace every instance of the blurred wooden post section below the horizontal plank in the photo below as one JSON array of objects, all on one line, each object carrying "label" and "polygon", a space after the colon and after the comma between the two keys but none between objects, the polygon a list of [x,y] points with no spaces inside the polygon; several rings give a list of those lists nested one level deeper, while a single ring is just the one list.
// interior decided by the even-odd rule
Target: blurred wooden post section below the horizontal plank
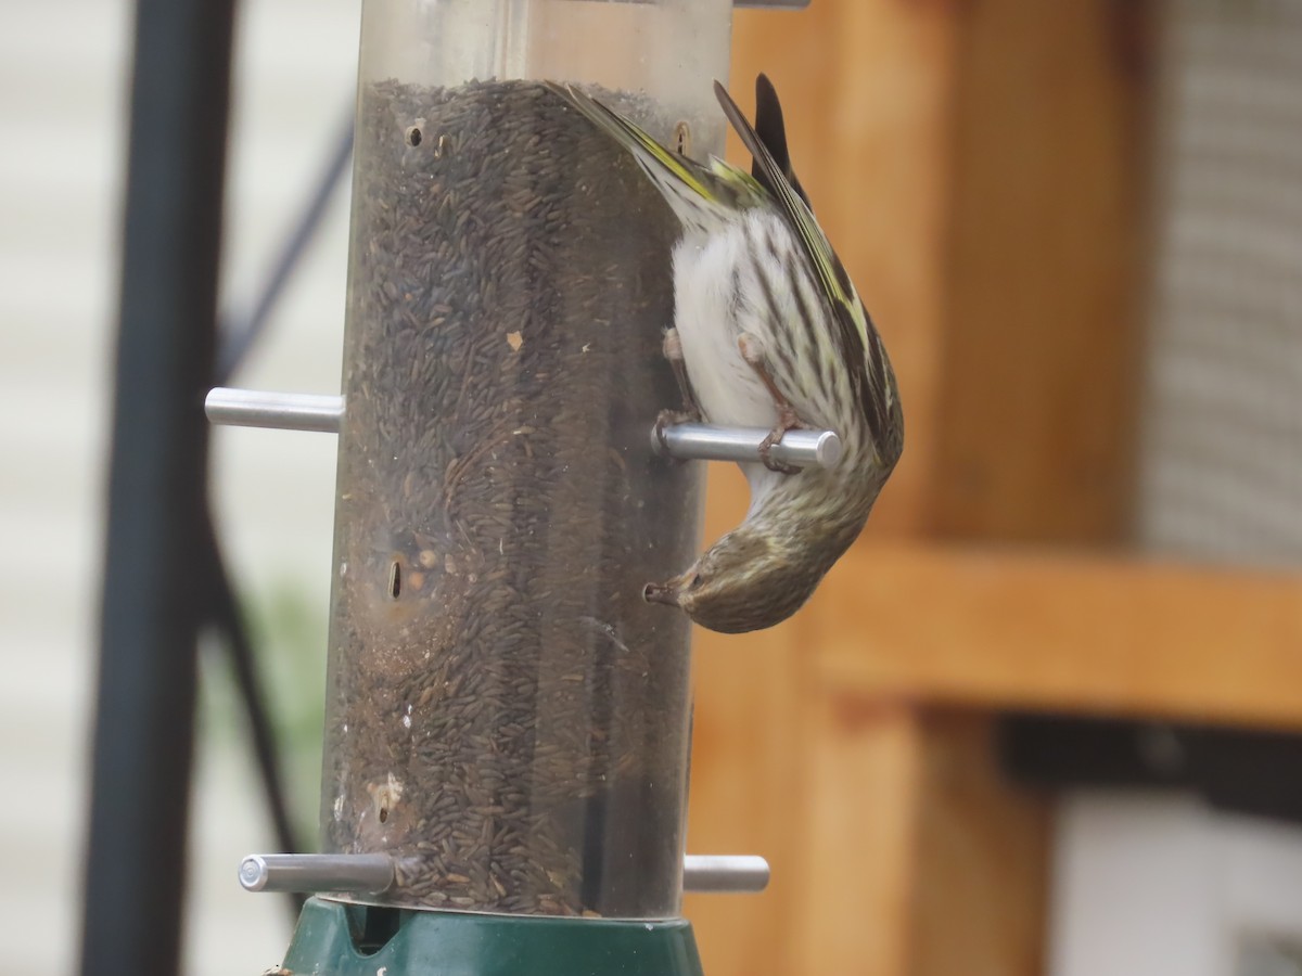
[{"label": "blurred wooden post section below the horizontal plank", "polygon": [[1000,779],[991,720],[832,687],[815,700],[825,747],[786,971],[1042,972],[1048,809]]}]

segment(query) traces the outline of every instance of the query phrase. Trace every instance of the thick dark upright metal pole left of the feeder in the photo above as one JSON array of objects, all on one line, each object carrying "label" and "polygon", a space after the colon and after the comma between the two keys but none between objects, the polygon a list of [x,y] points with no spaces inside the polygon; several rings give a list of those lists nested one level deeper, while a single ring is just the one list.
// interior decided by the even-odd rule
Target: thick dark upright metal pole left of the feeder
[{"label": "thick dark upright metal pole left of the feeder", "polygon": [[233,0],[138,0],[81,972],[177,971]]}]

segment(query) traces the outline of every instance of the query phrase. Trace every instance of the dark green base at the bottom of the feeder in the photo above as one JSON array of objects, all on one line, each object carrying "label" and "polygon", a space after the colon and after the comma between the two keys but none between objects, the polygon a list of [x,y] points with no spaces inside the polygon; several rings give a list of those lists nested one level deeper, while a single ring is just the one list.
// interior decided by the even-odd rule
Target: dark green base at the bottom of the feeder
[{"label": "dark green base at the bottom of the feeder", "polygon": [[311,898],[296,976],[702,976],[691,925],[406,911]]}]

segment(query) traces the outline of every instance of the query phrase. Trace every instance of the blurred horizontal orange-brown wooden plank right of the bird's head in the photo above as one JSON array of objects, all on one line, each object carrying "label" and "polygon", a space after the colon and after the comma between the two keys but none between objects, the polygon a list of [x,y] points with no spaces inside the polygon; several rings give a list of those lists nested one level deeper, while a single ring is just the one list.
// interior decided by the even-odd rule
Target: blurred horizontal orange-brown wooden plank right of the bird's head
[{"label": "blurred horizontal orange-brown wooden plank right of the bird's head", "polygon": [[806,613],[859,695],[1302,727],[1302,575],[868,545]]}]

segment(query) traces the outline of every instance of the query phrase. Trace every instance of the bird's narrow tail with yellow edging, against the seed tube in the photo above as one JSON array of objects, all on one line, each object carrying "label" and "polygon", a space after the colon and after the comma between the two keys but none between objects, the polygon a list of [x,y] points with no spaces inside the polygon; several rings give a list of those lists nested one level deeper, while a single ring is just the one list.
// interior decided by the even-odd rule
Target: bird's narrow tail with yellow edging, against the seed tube
[{"label": "bird's narrow tail with yellow edging, against the seed tube", "polygon": [[711,228],[728,211],[713,174],[652,139],[643,129],[578,88],[544,82],[547,88],[587,116],[637,160],[686,226]]}]

